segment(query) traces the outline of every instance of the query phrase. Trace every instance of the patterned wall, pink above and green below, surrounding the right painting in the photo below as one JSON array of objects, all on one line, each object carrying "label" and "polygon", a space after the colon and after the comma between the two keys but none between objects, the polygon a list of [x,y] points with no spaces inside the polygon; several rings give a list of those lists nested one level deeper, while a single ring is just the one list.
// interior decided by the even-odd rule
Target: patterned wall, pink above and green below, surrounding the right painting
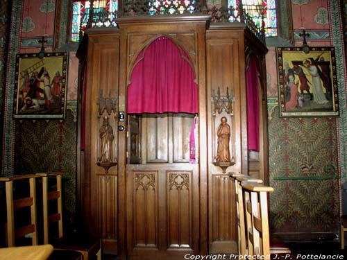
[{"label": "patterned wall, pink above and green below, surrounding the right painting", "polygon": [[343,162],[341,157],[346,154],[342,153],[346,94],[339,4],[330,2],[335,6],[328,6],[328,1],[291,1],[295,44],[301,46],[298,33],[305,28],[310,33],[310,46],[335,46],[339,102],[344,104],[339,119],[280,118],[276,49],[269,48],[266,55],[270,184],[275,189],[270,196],[271,232],[294,234],[291,239],[305,239],[307,234],[321,239],[328,233],[339,233],[340,175],[342,180],[345,176],[339,160]]}]

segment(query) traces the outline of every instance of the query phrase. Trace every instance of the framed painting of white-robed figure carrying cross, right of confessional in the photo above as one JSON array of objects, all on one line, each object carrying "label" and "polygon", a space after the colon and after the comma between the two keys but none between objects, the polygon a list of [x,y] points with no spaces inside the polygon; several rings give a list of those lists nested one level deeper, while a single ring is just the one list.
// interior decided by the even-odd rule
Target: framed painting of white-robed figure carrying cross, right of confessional
[{"label": "framed painting of white-robed figure carrying cross, right of confessional", "polygon": [[337,76],[333,47],[278,47],[280,116],[338,116]]}]

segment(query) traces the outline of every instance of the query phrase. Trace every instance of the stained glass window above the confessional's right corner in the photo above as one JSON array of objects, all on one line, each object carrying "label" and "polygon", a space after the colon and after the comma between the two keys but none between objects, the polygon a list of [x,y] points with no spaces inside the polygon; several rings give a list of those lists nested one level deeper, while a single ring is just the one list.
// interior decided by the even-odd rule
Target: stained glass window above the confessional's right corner
[{"label": "stained glass window above the confessional's right corner", "polygon": [[[228,0],[228,6],[239,7],[240,0]],[[251,15],[258,28],[264,15],[265,36],[277,36],[276,0],[242,0],[242,8]]]}]

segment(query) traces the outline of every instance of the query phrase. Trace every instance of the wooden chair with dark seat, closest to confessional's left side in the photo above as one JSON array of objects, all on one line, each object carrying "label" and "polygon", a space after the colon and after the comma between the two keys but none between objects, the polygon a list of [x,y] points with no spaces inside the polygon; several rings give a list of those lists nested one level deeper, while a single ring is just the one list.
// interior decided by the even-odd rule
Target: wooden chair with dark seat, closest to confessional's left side
[{"label": "wooden chair with dark seat, closest to confessional's left side", "polygon": [[[37,173],[42,177],[42,200],[43,200],[43,222],[44,222],[44,243],[52,243],[54,248],[76,250],[83,254],[83,259],[91,259],[95,256],[97,260],[101,260],[101,240],[91,238],[85,234],[68,234],[64,236],[62,227],[62,175],[65,172]],[[56,190],[49,191],[49,177],[56,179]],[[56,200],[56,213],[49,214],[49,202]],[[51,239],[49,237],[49,226],[58,223],[58,238]]]}]

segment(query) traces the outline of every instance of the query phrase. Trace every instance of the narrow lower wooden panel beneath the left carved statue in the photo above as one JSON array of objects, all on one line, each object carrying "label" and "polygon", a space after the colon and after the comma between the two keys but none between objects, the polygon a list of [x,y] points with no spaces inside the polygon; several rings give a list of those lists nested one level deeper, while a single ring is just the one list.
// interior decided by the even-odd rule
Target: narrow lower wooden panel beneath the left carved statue
[{"label": "narrow lower wooden panel beneath the left carved statue", "polygon": [[117,237],[117,176],[99,175],[99,225],[101,237]]}]

